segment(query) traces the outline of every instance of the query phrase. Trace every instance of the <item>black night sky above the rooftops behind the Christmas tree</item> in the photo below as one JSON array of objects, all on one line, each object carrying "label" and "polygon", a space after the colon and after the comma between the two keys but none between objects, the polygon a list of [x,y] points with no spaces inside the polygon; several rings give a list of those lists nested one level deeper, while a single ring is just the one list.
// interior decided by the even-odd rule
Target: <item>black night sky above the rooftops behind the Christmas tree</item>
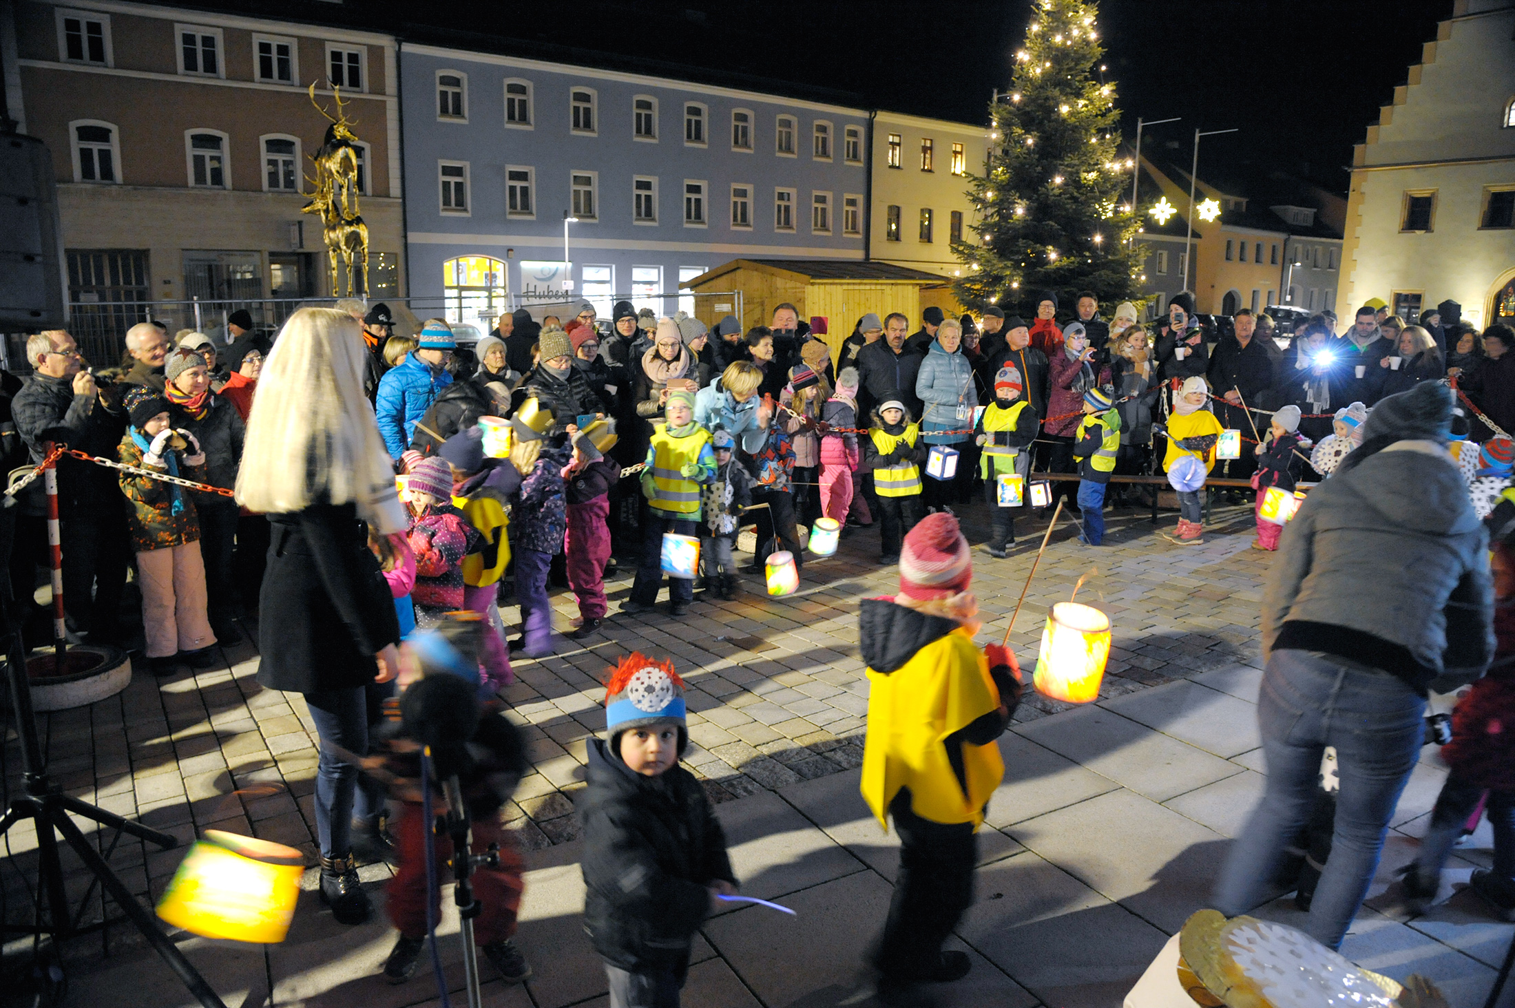
[{"label": "black night sky above the rooftops behind the Christmas tree", "polygon": [[[521,5],[509,5],[511,24],[500,27],[518,38],[730,70],[744,77],[735,86],[791,80],[970,123],[985,120],[992,91],[1009,82],[1032,11],[1030,0],[583,2],[585,17],[574,21],[591,30],[582,38],[565,38],[562,18],[545,9],[523,32]],[[1404,83],[1451,3],[1104,0],[1101,39],[1124,135],[1133,136],[1138,115],[1180,115],[1182,123],[1144,133],[1142,147],[1176,141],[1151,153],[1186,165],[1195,127],[1239,126],[1241,133],[1201,144],[1201,174],[1215,156],[1227,176],[1283,168],[1345,193],[1351,146]]]}]

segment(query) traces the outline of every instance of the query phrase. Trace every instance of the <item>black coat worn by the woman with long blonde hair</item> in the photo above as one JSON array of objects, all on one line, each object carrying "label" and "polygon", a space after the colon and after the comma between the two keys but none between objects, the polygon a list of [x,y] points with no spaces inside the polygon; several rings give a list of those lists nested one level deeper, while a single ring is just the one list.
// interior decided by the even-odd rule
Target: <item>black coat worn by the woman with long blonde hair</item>
[{"label": "black coat worn by the woman with long blonde hair", "polygon": [[314,503],[268,524],[258,682],[286,693],[373,682],[374,655],[400,641],[400,620],[356,505]]}]

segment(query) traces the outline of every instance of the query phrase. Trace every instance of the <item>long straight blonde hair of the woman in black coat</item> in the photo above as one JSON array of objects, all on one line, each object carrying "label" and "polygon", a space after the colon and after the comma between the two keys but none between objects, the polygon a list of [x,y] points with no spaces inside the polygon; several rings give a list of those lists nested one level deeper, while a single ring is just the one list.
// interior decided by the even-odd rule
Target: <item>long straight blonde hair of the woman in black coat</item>
[{"label": "long straight blonde hair of the woman in black coat", "polygon": [[364,353],[347,312],[301,308],[289,315],[258,379],[238,503],[283,514],[317,499],[353,502],[380,535],[405,531],[394,468],[364,394]]}]

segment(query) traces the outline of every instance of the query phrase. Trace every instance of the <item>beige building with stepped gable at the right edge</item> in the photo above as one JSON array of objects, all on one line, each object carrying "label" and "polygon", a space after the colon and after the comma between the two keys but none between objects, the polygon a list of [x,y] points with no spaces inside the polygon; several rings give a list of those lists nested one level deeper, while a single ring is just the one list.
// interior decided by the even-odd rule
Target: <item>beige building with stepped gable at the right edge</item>
[{"label": "beige building with stepped gable at the right edge", "polygon": [[1342,305],[1515,323],[1515,8],[1456,0],[1353,153]]}]

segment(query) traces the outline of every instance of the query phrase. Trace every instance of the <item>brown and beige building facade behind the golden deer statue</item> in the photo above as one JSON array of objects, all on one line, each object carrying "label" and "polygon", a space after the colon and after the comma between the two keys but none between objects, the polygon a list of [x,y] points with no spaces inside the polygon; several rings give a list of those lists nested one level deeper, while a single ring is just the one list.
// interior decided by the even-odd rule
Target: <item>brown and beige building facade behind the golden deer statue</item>
[{"label": "brown and beige building facade behind the golden deer statue", "polygon": [[[374,297],[405,294],[391,36],[139,3],[11,0],[11,114],[58,170],[71,324],[106,346],[144,314],[214,329],[229,306],[330,296],[303,214],[341,85]],[[345,270],[342,271],[345,290]],[[194,300],[205,306],[195,315]]]}]

